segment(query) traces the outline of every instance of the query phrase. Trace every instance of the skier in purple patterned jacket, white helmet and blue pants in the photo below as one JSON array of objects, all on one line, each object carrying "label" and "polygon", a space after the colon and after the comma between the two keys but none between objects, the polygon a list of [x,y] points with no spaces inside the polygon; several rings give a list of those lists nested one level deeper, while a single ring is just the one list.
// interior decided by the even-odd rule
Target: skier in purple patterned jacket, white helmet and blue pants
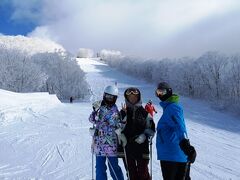
[{"label": "skier in purple patterned jacket, white helmet and blue pants", "polygon": [[103,100],[93,103],[93,112],[89,121],[94,124],[91,128],[93,136],[92,150],[96,154],[96,180],[107,180],[107,166],[114,180],[123,180],[123,173],[118,165],[116,130],[121,124],[120,113],[116,106],[118,89],[116,86],[107,86]]}]

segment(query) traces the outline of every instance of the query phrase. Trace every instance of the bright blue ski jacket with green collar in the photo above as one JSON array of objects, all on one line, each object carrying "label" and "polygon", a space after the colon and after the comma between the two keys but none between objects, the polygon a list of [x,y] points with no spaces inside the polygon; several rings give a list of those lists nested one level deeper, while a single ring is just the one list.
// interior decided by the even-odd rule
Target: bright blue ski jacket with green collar
[{"label": "bright blue ski jacket with green collar", "polygon": [[157,125],[158,160],[187,162],[187,156],[181,150],[179,142],[187,136],[183,109],[178,104],[179,96],[173,94],[160,102],[163,114]]}]

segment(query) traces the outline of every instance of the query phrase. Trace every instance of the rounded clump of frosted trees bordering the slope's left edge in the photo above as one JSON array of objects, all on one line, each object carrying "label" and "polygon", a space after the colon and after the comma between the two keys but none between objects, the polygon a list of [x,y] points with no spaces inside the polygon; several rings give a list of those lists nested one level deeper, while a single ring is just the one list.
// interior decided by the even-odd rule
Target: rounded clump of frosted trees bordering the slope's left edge
[{"label": "rounded clump of frosted trees bordering the slope's left edge", "polygon": [[85,74],[70,55],[63,57],[58,53],[43,53],[32,58],[47,74],[46,91],[57,94],[59,99],[88,95]]}]

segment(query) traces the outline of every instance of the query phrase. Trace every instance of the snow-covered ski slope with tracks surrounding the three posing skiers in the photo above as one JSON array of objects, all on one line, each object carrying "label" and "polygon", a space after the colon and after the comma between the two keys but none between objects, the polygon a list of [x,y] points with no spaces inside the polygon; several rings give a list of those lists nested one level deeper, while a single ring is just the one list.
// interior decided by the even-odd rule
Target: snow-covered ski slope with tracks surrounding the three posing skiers
[{"label": "snow-covered ski slope with tracks surrounding the three posing skiers", "polygon": [[[143,102],[154,97],[155,86],[126,76],[107,65],[78,59],[87,73],[94,96],[118,83],[117,104],[124,102],[126,87],[137,86]],[[91,179],[91,137],[88,116],[91,102],[61,104],[46,93],[17,94],[0,90],[0,179]],[[181,98],[189,136],[198,157],[192,165],[193,180],[240,179],[240,119],[212,110],[203,102]],[[154,139],[155,143],[155,139]],[[122,162],[120,163],[121,166]],[[153,179],[161,179],[153,147]]]}]

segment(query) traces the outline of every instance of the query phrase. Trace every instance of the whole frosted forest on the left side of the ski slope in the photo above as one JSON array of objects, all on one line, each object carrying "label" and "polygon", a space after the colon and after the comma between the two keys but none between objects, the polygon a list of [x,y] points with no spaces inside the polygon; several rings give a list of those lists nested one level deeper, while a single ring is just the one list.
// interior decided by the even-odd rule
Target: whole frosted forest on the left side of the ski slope
[{"label": "whole frosted forest on the left side of the ski slope", "polygon": [[[25,38],[22,40],[26,41]],[[32,39],[27,39],[28,46]],[[3,42],[3,41],[1,41]],[[17,44],[19,41],[15,41]],[[25,50],[0,43],[0,88],[14,92],[49,92],[60,100],[84,98],[89,94],[85,74],[70,54]],[[39,44],[32,43],[32,46]],[[25,47],[25,46],[23,46]],[[30,52],[29,52],[30,51]]]}]

